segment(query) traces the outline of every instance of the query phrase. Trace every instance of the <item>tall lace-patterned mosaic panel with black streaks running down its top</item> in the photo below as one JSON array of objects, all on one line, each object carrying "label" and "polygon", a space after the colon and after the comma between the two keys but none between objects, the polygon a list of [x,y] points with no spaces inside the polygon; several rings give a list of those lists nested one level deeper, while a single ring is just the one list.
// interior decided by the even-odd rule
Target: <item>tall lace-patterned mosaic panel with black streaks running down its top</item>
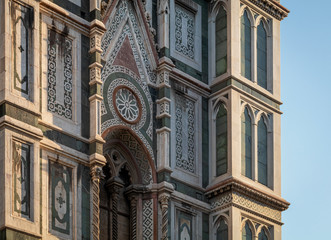
[{"label": "tall lace-patterned mosaic panel with black streaks running down its top", "polygon": [[72,40],[48,30],[47,109],[72,120]]}]

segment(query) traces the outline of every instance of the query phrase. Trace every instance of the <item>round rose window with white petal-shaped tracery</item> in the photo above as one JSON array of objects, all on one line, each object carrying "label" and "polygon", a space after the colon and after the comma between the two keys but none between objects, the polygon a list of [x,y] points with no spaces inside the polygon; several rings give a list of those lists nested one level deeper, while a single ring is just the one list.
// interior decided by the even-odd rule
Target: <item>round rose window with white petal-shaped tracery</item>
[{"label": "round rose window with white petal-shaped tracery", "polygon": [[115,92],[115,106],[124,120],[135,122],[139,118],[140,103],[136,95],[127,88],[120,88]]}]

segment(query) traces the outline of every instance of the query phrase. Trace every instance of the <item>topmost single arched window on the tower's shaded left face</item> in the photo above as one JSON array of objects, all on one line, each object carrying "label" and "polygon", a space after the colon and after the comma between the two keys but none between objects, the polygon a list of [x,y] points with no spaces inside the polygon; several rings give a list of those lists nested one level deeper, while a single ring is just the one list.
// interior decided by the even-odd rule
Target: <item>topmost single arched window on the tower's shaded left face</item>
[{"label": "topmost single arched window on the tower's shaded left face", "polygon": [[220,7],[216,17],[215,31],[217,77],[227,70],[227,19],[223,6]]}]

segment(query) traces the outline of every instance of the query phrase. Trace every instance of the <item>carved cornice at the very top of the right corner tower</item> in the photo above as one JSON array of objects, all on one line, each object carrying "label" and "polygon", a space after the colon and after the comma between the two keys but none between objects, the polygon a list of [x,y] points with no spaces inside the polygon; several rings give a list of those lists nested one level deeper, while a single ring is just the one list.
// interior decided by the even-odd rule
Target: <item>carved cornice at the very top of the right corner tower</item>
[{"label": "carved cornice at the very top of the right corner tower", "polygon": [[287,17],[289,10],[282,6],[280,3],[273,0],[242,0],[245,2],[250,2],[255,6],[261,8],[266,13],[270,14],[277,20],[281,21]]}]

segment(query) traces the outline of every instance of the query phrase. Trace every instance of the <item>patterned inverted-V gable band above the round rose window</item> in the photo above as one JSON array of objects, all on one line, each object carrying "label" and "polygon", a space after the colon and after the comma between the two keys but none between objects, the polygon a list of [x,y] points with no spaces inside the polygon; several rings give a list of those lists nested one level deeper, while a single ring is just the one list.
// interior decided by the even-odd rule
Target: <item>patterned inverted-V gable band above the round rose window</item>
[{"label": "patterned inverted-V gable band above the round rose window", "polygon": [[139,68],[146,83],[155,85],[158,57],[145,15],[141,12],[141,1],[117,0],[112,5],[116,6],[112,9],[115,14],[105,20],[107,30],[101,42],[102,58],[106,61],[102,79],[107,78],[104,70],[113,65],[112,59],[118,53],[123,39],[129,36],[131,48],[136,49],[135,60],[140,61]]}]

